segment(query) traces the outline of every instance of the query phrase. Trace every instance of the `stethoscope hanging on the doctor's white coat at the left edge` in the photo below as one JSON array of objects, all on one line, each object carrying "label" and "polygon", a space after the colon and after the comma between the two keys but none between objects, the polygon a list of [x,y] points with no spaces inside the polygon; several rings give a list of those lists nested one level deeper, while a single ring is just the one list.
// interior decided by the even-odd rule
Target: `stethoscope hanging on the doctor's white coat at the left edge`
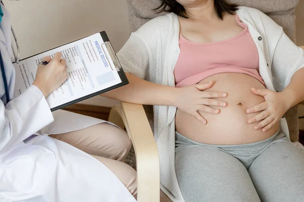
[{"label": "stethoscope hanging on the doctor's white coat at the left edge", "polygon": [[[0,0],[0,3],[3,4],[2,0]],[[3,6],[4,6],[4,4],[3,4]],[[19,58],[20,58],[20,47],[19,47],[19,43],[18,43],[16,34],[15,34],[15,31],[13,29],[13,26],[11,26],[11,31],[12,31],[13,37],[16,42],[16,47],[17,47],[17,54],[16,54],[14,46],[12,44],[13,55],[14,55],[16,63],[18,64]],[[1,52],[0,52],[0,66],[1,66],[1,73],[2,73],[2,78],[3,78],[3,83],[4,83],[5,94],[6,94],[6,101],[7,101],[7,103],[9,103],[10,102],[10,91],[9,91],[9,85],[8,85],[8,81],[7,81],[6,74],[5,74],[5,68],[4,68],[4,63],[3,63],[3,58],[2,58]]]}]

